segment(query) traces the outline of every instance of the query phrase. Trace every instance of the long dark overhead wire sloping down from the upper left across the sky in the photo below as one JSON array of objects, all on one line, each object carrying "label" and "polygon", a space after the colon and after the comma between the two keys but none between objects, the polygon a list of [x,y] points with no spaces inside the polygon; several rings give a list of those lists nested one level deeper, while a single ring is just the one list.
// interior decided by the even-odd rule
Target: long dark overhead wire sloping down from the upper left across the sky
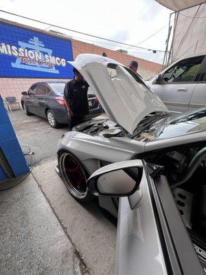
[{"label": "long dark overhead wire sloping down from the upper left across the sky", "polygon": [[[102,40],[105,40],[105,41],[109,41],[109,42],[113,42],[113,43],[118,43],[118,44],[121,44],[121,45],[126,45],[126,46],[130,46],[130,47],[135,47],[137,49],[144,49],[144,50],[155,50],[155,49],[148,49],[146,47],[138,47],[138,46],[135,46],[135,45],[131,45],[131,44],[128,44],[128,43],[124,43],[124,42],[120,42],[120,41],[115,41],[115,40],[112,40],[112,39],[105,39],[101,36],[95,36],[93,34],[87,34],[85,32],[79,32],[77,30],[71,30],[71,29],[68,29],[68,28],[64,28],[64,27],[60,27],[59,25],[54,25],[54,24],[51,24],[51,23],[46,23],[46,22],[43,22],[43,21],[40,21],[40,20],[37,20],[37,19],[31,19],[29,17],[24,17],[23,15],[19,15],[19,14],[15,14],[15,13],[12,13],[12,12],[7,12],[5,10],[0,10],[0,12],[3,12],[3,13],[6,13],[6,14],[10,14],[10,15],[14,15],[16,17],[21,17],[23,19],[27,19],[27,20],[31,20],[31,21],[35,21],[35,22],[38,22],[38,23],[42,23],[42,24],[46,24],[46,25],[51,25],[53,27],[56,27],[56,28],[60,28],[62,30],[69,30],[69,32],[76,32],[77,34],[83,34],[83,35],[87,35],[87,36],[91,36],[95,39],[102,39]],[[157,52],[164,52],[163,50],[155,50]]]}]

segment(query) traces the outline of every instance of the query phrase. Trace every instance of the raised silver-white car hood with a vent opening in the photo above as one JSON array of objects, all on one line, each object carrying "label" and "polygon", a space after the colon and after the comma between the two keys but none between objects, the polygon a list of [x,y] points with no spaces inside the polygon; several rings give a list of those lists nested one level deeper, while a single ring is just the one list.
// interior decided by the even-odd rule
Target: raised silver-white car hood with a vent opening
[{"label": "raised silver-white car hood with a vent opening", "polygon": [[130,134],[149,113],[168,112],[137,74],[111,58],[80,54],[69,63],[87,80],[108,117]]}]

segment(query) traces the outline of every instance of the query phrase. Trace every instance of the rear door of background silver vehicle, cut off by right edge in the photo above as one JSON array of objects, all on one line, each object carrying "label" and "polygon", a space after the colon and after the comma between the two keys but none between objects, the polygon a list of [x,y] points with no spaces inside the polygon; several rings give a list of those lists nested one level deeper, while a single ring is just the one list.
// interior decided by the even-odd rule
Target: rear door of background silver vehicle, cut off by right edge
[{"label": "rear door of background silver vehicle, cut off by right edge", "polygon": [[206,57],[198,73],[197,80],[198,83],[196,84],[190,100],[190,110],[206,106]]}]

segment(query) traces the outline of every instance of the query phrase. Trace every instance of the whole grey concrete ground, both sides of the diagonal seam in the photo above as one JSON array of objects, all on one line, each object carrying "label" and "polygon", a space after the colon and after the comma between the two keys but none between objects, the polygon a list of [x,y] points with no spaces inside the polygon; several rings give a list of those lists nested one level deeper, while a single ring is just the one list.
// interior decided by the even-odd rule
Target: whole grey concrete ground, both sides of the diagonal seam
[{"label": "whole grey concrete ground, both sides of the diagonal seam", "polygon": [[97,201],[80,205],[56,174],[57,143],[67,131],[10,113],[21,145],[34,151],[32,175],[0,192],[0,274],[113,275],[115,220]]}]

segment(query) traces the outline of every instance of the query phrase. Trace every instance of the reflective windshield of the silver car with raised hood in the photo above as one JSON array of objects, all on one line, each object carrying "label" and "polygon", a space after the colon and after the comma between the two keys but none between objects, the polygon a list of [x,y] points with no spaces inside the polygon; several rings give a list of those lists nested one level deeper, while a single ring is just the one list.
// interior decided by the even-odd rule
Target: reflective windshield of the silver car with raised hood
[{"label": "reflective windshield of the silver car with raised hood", "polygon": [[159,120],[152,124],[149,131],[142,132],[140,139],[146,138],[146,141],[152,141],[199,131],[206,131],[206,109],[174,120],[171,120],[171,117]]}]

